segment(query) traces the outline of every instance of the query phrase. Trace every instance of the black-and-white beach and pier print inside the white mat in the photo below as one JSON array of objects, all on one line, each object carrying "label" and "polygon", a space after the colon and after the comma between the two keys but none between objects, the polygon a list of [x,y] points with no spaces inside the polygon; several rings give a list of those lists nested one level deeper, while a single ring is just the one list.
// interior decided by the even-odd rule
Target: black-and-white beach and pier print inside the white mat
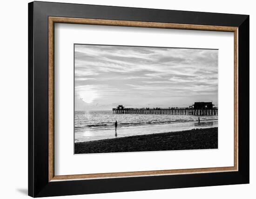
[{"label": "black-and-white beach and pier print inside the white mat", "polygon": [[74,153],[218,148],[218,49],[74,44]]}]

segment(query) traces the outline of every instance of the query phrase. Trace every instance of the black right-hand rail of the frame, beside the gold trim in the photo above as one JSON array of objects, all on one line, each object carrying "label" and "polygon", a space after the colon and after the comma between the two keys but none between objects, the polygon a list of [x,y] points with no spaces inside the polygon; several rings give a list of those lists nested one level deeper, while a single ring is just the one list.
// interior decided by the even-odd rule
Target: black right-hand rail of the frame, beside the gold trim
[{"label": "black right-hand rail of the frame, beside the gold trim", "polygon": [[249,183],[249,15],[238,27],[238,158]]}]

